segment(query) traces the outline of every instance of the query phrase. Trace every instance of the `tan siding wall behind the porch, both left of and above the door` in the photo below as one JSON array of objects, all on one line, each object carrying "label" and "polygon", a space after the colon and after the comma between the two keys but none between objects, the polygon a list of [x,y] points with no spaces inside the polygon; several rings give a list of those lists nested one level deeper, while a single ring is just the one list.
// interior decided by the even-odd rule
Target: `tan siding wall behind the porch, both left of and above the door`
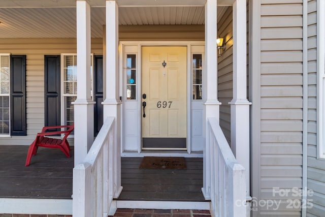
[{"label": "tan siding wall behind the porch, both left of and above the door", "polygon": [[[119,26],[120,41],[204,41],[204,25]],[[76,39],[1,39],[0,53],[26,55],[27,136],[0,137],[0,145],[29,145],[44,127],[44,55],[77,53]],[[103,54],[103,39],[91,39],[91,53]]]}]

